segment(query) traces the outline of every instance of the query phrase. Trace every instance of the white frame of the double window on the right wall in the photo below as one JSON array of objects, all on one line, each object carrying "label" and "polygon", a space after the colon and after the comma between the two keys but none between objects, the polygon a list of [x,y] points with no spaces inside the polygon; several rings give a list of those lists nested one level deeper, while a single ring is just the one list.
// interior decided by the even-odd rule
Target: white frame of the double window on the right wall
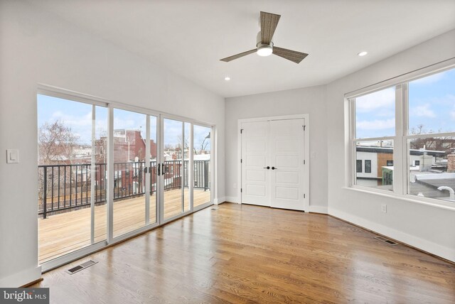
[{"label": "white frame of the double window on the right wall", "polygon": [[[428,67],[422,67],[419,70],[414,70],[407,74],[403,74],[397,77],[392,77],[388,80],[378,82],[375,85],[364,87],[353,92],[345,94],[345,102],[347,103],[346,117],[348,119],[348,158],[347,158],[347,170],[348,179],[346,186],[354,190],[361,190],[363,192],[372,192],[380,195],[389,197],[397,197],[406,201],[418,202],[424,205],[432,205],[434,207],[442,207],[444,209],[455,210],[454,202],[447,202],[432,197],[419,197],[417,195],[409,194],[410,192],[410,139],[427,138],[427,137],[438,137],[438,136],[455,136],[454,132],[439,132],[431,134],[410,134],[409,133],[409,89],[408,83],[413,80],[418,80],[424,77],[444,72],[446,70],[452,70],[455,68],[455,58],[444,60],[441,63],[436,63]],[[378,138],[367,138],[367,139],[356,139],[355,137],[355,98],[378,92],[388,87],[395,87],[395,136],[378,137]],[[374,141],[374,140],[392,140],[394,153],[394,177],[393,177],[393,190],[383,190],[378,188],[369,188],[362,185],[356,185],[356,149],[355,145],[358,141]],[[412,165],[414,165],[412,163]]]}]

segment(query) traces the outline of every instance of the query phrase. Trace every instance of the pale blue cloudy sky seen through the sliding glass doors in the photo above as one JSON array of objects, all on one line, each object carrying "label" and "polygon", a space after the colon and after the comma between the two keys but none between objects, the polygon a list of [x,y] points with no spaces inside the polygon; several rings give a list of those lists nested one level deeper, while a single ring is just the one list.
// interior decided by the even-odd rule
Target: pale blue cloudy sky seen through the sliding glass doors
[{"label": "pale blue cloudy sky seen through the sliding glass doors", "polygon": [[[107,134],[107,108],[95,107],[95,134],[97,138]],[[92,139],[92,105],[82,102],[73,102],[67,99],[50,97],[38,94],[38,128],[48,122],[63,121],[65,126],[79,137],[81,145],[90,145]],[[150,138],[156,142],[156,116],[150,119]],[[134,129],[141,131],[142,137],[146,137],[146,115],[129,112],[122,109],[114,109],[114,129]],[[194,146],[200,143],[210,133],[210,128],[205,126],[193,127]],[[185,136],[190,133],[190,124],[185,123]],[[164,141],[166,144],[176,146],[182,139],[182,122],[172,119],[164,119]],[[210,149],[210,143],[207,146]]]}]

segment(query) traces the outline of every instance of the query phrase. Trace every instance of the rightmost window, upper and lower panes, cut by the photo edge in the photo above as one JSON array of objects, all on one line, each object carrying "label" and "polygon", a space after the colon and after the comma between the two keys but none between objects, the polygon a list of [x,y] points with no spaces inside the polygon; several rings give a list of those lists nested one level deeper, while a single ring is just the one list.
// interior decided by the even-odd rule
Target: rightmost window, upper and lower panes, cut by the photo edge
[{"label": "rightmost window, upper and lower panes, cut by the photo edge", "polygon": [[[405,96],[406,97],[406,96]],[[407,194],[455,202],[455,69],[409,82]]]}]

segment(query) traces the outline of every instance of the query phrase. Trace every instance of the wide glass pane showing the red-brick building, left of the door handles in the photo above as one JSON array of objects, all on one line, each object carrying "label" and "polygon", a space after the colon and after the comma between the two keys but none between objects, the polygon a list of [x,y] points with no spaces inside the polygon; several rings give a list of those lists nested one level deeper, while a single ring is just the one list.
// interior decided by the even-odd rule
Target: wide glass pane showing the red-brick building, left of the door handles
[{"label": "wide glass pane showing the red-brick building, left of the door handles", "polygon": [[145,226],[146,115],[114,109],[114,237]]}]

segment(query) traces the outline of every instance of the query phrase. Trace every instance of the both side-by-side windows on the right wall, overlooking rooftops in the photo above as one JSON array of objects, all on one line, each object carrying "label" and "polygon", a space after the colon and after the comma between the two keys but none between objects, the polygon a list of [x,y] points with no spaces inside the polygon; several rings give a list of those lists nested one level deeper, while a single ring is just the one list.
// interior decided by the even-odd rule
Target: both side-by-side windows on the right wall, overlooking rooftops
[{"label": "both side-by-side windows on the right wall, overlooking rooftops", "polygon": [[[454,68],[349,101],[353,185],[455,203]],[[395,155],[394,143],[405,153]],[[366,183],[367,174],[378,183]],[[394,180],[402,180],[400,187]]]}]

